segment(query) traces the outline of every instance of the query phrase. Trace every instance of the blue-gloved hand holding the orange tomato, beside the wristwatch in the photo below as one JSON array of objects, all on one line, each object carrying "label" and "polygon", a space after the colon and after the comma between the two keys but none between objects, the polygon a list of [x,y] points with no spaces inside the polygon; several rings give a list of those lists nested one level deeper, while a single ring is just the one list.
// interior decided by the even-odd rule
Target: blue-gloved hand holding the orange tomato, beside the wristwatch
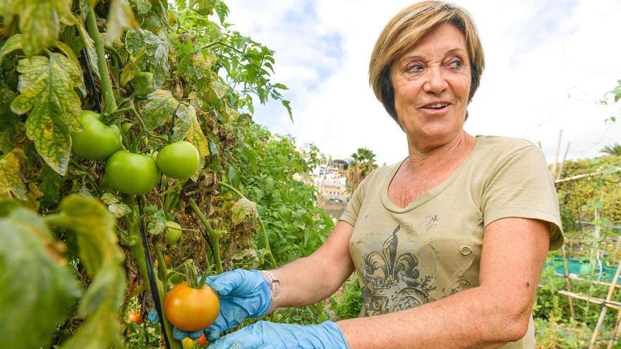
[{"label": "blue-gloved hand holding the orange tomato, beside the wristwatch", "polygon": [[239,325],[249,317],[260,317],[270,309],[270,285],[258,270],[235,269],[205,282],[220,298],[216,321],[204,330],[207,340],[216,341],[224,331]]}]

